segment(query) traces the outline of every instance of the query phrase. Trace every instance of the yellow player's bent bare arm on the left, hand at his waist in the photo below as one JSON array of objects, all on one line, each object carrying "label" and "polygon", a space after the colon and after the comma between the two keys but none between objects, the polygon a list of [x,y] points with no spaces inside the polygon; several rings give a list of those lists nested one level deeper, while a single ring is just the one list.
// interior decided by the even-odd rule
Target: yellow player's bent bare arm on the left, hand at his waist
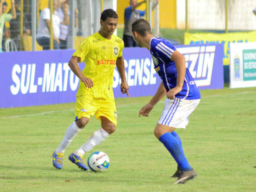
[{"label": "yellow player's bent bare arm on the left, hand at his waist", "polygon": [[85,87],[92,88],[93,81],[90,78],[86,78],[81,72],[78,62],[80,62],[80,57],[72,56],[69,60],[69,67],[71,71],[85,84]]}]

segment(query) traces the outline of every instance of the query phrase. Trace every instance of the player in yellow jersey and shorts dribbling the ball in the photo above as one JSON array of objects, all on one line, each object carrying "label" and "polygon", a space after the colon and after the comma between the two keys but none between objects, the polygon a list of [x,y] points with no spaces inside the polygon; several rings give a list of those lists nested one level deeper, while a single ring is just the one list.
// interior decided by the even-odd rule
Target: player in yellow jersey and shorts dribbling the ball
[{"label": "player in yellow jersey and shorts dribbling the ball", "polygon": [[[106,9],[100,17],[100,31],[85,38],[73,53],[69,67],[80,79],[76,94],[76,120],[67,128],[59,147],[52,154],[52,164],[62,168],[62,157],[77,133],[89,122],[90,116],[100,119],[101,128],[96,130],[79,149],[69,155],[69,160],[83,170],[83,155],[104,141],[116,130],[116,105],[113,94],[113,73],[117,67],[121,77],[121,92],[128,93],[122,50],[123,40],[113,35],[118,23],[118,15],[113,9]],[[78,62],[85,63],[83,71]]]}]

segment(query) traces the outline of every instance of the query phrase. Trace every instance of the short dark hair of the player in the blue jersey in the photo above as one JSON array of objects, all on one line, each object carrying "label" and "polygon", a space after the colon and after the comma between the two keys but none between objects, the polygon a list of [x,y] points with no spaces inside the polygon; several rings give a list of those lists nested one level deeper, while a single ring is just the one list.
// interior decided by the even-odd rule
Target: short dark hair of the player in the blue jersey
[{"label": "short dark hair of the player in the blue jersey", "polygon": [[145,37],[148,33],[152,34],[149,22],[145,19],[138,19],[132,24],[132,32],[136,31],[142,37]]}]

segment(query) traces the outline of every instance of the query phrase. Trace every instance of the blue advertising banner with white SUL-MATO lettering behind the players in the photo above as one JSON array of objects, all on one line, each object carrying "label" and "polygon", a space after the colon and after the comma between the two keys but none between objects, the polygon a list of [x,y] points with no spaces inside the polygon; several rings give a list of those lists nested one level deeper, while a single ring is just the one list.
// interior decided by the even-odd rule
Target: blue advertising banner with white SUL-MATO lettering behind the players
[{"label": "blue advertising banner with white SUL-MATO lettering behind the players", "polygon": [[[177,46],[200,89],[223,88],[223,47],[219,44]],[[68,66],[74,50],[4,52],[0,54],[0,108],[76,101],[79,79]],[[130,97],[154,95],[161,79],[145,48],[123,50]],[[79,63],[81,70],[84,63]],[[121,94],[115,69],[113,90]]]}]

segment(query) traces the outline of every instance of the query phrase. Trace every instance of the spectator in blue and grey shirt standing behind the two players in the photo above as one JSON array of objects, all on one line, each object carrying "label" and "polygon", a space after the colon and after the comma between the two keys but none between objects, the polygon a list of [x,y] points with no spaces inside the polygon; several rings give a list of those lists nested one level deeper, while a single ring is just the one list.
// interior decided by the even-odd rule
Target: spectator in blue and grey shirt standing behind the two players
[{"label": "spectator in blue and grey shirt standing behind the two players", "polygon": [[[125,47],[138,47],[137,43],[133,40],[132,23],[145,15],[146,10],[140,11],[136,9],[136,7],[139,7],[145,2],[146,0],[139,3],[137,0],[130,0],[130,6],[124,10],[123,42]],[[156,0],[152,10],[159,2],[160,0]]]}]

